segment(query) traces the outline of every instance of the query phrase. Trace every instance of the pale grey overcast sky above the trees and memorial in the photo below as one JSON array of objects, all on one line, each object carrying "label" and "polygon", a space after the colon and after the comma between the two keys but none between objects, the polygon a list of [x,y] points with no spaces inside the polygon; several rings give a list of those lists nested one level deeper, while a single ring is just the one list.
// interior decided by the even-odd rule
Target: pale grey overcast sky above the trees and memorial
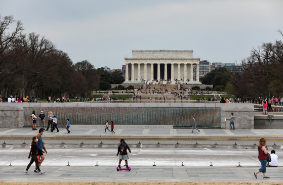
[{"label": "pale grey overcast sky above the trees and memorial", "polygon": [[[262,42],[282,40],[283,1],[0,0],[0,15],[21,20],[76,63],[122,68],[132,50],[193,50],[237,63]],[[12,27],[11,29],[12,30]]]}]

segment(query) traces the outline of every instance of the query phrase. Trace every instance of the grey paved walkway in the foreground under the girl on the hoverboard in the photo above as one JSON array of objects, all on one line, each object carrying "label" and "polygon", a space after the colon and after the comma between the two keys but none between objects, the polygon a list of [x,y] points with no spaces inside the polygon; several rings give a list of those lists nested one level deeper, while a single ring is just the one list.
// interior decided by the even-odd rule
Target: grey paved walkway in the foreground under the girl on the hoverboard
[{"label": "grey paved walkway in the foreground under the girl on the hoverboard", "polygon": [[253,176],[259,167],[167,167],[149,166],[132,167],[131,171],[116,171],[115,166],[64,166],[43,167],[44,174],[25,174],[25,167],[0,166],[1,181],[59,181],[59,182],[283,182],[283,168],[267,168],[263,179],[259,173]]}]

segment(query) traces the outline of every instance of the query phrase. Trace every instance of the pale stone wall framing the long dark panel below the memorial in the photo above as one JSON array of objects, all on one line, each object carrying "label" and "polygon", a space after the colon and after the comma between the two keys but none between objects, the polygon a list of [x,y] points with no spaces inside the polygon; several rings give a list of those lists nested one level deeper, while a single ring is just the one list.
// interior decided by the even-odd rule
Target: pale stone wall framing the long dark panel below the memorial
[{"label": "pale stone wall framing the long dark panel below the memorial", "polygon": [[[209,110],[220,109],[220,127],[229,129],[229,121],[225,121],[226,118],[230,118],[230,113],[233,112],[235,116],[235,127],[237,129],[253,129],[254,128],[254,106],[253,104],[220,104],[220,103],[104,103],[104,102],[95,102],[95,103],[0,103],[0,128],[23,128],[24,126],[24,110],[34,108],[36,110],[46,109],[46,110],[60,110],[61,108],[195,108],[194,111],[201,110],[207,113],[202,113],[199,117],[196,118],[197,122],[201,119],[214,119],[215,115],[210,114]],[[161,109],[160,109],[161,110]],[[181,110],[181,109],[180,109]],[[182,112],[182,111],[181,111]],[[40,112],[36,112],[36,116]],[[47,112],[44,112],[47,116]],[[38,115],[37,115],[38,114]],[[199,112],[195,112],[199,114]],[[70,114],[71,115],[71,114]],[[191,116],[194,114],[192,113]],[[83,116],[83,115],[82,115]],[[170,116],[166,114],[166,116]],[[158,115],[156,115],[158,118]],[[84,118],[84,117],[83,117]],[[183,119],[184,116],[180,113],[180,122],[192,123],[192,118]],[[26,116],[26,119],[29,119],[29,115]],[[88,118],[84,118],[84,121],[87,121]],[[46,120],[47,121],[47,120]],[[31,115],[30,115],[31,122]],[[72,123],[75,124],[75,123]],[[99,123],[104,124],[104,123]],[[154,122],[150,122],[148,125],[156,125]]]}]

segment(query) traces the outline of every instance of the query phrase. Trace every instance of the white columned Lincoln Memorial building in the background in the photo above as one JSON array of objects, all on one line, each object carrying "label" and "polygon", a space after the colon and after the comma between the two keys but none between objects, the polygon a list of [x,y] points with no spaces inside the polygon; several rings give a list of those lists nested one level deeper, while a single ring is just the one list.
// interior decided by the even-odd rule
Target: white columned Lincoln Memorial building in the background
[{"label": "white columned Lincoln Memorial building in the background", "polygon": [[132,58],[125,58],[124,83],[201,84],[198,72],[200,58],[193,58],[192,53],[192,50],[133,50]]}]

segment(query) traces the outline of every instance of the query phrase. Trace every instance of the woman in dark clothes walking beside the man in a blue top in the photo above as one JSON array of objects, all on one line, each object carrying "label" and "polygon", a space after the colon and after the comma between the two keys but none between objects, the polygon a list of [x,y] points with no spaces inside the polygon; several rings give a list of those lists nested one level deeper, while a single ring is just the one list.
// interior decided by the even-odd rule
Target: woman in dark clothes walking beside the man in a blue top
[{"label": "woman in dark clothes walking beside the man in a blue top", "polygon": [[38,153],[38,151],[41,151],[41,152],[44,153],[44,151],[42,151],[38,148],[38,146],[36,145],[37,141],[38,140],[36,139],[36,136],[33,136],[30,152],[29,152],[29,155],[28,155],[28,159],[30,159],[30,157],[31,157],[31,159],[30,159],[29,164],[26,167],[26,170],[24,171],[25,174],[30,174],[28,172],[28,169],[30,168],[30,166],[32,165],[33,162],[35,162],[35,165],[36,165],[36,168],[35,168],[36,172],[38,172],[39,174],[45,173],[45,171],[41,171],[41,169],[39,168],[37,153]]}]

